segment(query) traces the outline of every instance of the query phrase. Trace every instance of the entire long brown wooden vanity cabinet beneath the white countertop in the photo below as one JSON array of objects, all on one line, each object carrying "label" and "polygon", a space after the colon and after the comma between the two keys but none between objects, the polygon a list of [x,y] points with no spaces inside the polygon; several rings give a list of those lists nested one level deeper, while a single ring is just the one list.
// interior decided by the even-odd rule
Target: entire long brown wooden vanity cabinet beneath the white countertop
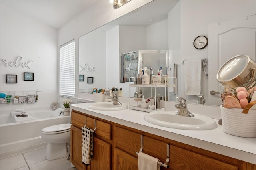
[{"label": "entire long brown wooden vanity cabinet beneath the white countertop", "polygon": [[[86,117],[87,116],[87,117]],[[86,117],[86,118],[85,118]],[[94,156],[90,166],[81,162],[82,130],[86,127],[94,133]],[[250,164],[235,158],[203,150],[188,144],[156,136],[134,128],[72,111],[71,161],[78,170],[138,170],[138,156],[143,138],[142,152],[166,162],[169,148],[169,170],[256,170]],[[160,170],[167,170],[160,166]]]}]

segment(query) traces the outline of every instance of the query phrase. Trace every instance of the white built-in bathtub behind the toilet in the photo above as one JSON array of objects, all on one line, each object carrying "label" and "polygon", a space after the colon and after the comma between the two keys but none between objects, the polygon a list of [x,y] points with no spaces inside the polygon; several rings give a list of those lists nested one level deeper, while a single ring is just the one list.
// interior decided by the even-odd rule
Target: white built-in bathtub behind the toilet
[{"label": "white built-in bathtub behind the toilet", "polygon": [[[0,115],[0,154],[11,154],[46,144],[41,139],[42,128],[61,123],[70,123],[70,116],[60,115],[60,111],[27,111],[33,121],[16,123],[11,114]],[[60,115],[60,116],[59,116]]]}]

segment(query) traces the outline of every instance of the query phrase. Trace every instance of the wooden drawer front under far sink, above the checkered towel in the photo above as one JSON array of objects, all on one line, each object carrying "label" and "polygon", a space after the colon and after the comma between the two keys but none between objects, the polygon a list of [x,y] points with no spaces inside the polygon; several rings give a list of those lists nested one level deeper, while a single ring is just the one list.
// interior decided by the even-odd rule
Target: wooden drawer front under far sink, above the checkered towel
[{"label": "wooden drawer front under far sink, above the checkered towel", "polygon": [[[96,130],[94,132],[95,136],[98,136],[98,137],[101,136],[103,138],[106,138],[107,140],[111,140],[111,124],[100,121],[97,118],[95,119],[96,119]],[[82,127],[84,127],[85,125],[85,120],[86,120],[86,127],[94,130],[95,128],[94,118],[72,111],[72,115],[71,115],[72,125],[82,129]]]}]

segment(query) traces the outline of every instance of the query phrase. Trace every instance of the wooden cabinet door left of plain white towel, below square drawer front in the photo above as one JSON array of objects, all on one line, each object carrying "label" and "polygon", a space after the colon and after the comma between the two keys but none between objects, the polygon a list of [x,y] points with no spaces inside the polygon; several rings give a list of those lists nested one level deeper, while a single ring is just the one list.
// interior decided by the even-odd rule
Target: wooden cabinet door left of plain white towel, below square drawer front
[{"label": "wooden cabinet door left of plain white towel, below square drawer front", "polygon": [[114,170],[138,170],[138,158],[114,148]]}]

